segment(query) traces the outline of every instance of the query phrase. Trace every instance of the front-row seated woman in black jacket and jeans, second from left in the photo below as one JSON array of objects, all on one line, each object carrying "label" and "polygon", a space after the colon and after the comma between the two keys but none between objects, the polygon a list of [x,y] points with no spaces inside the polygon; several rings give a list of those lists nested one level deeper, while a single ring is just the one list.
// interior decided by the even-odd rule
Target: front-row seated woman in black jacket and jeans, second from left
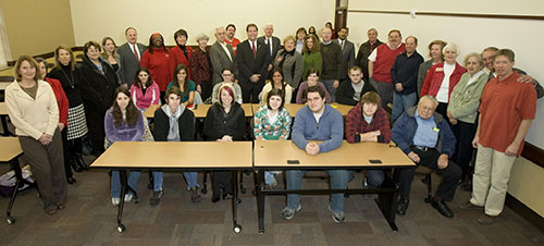
[{"label": "front-row seated woman in black jacket and jeans, second from left", "polygon": [[[166,103],[154,111],[153,137],[156,142],[195,140],[195,114],[182,103],[182,91],[176,86],[166,90]],[[200,201],[197,172],[184,172],[190,200]],[[153,172],[153,197],[149,200],[154,206],[162,197],[162,172]]]}]

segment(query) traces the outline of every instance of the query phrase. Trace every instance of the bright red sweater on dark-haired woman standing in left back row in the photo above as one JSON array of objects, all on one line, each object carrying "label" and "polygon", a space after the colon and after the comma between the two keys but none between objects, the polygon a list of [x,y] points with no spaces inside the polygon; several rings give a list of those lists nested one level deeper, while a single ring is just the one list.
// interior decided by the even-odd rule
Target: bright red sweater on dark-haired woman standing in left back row
[{"label": "bright red sweater on dark-haired woman standing in left back row", "polygon": [[166,90],[166,85],[172,81],[172,73],[174,73],[174,71],[170,70],[168,52],[164,52],[162,48],[153,48],[152,53],[146,50],[141,56],[139,65],[149,70],[152,79],[157,82],[161,91]]}]

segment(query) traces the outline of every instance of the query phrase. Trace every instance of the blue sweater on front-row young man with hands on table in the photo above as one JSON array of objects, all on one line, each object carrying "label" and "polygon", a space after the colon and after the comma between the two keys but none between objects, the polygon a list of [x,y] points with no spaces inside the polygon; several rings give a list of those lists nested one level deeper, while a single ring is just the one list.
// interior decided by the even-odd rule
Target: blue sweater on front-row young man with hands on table
[{"label": "blue sweater on front-row young man with hands on table", "polygon": [[319,123],[308,106],[298,110],[290,136],[290,139],[298,148],[306,149],[308,140],[323,142],[319,144],[319,152],[327,152],[341,147],[344,136],[342,114],[330,104],[323,107],[325,109],[319,119]]}]

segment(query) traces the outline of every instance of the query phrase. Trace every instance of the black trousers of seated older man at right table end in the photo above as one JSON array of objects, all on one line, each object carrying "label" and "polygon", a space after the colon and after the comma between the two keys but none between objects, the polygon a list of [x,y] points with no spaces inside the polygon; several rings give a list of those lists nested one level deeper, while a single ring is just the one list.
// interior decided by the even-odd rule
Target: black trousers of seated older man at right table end
[{"label": "black trousers of seated older man at right table end", "polygon": [[[440,152],[436,149],[429,149],[426,151],[420,150],[412,147],[411,150],[416,152],[420,161],[418,165],[424,165],[436,171],[436,174],[442,175],[442,183],[438,185],[438,189],[435,196],[450,201],[454,199],[455,190],[459,184],[459,179],[461,179],[461,169],[449,162],[445,169],[438,169],[438,157]],[[400,195],[405,198],[409,197],[411,182],[413,181],[413,174],[416,173],[416,168],[400,169],[399,171],[399,183],[400,183]]]}]

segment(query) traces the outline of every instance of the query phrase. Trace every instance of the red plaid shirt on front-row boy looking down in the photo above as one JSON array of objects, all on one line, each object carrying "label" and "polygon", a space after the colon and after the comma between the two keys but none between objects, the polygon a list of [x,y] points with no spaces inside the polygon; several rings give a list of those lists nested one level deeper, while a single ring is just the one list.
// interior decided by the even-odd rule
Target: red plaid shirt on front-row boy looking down
[{"label": "red plaid shirt on front-row boy looking down", "polygon": [[346,116],[346,139],[348,143],[359,143],[361,137],[359,134],[380,131],[381,135],[378,136],[379,143],[391,142],[391,126],[387,113],[383,109],[379,109],[372,116],[370,124],[364,121],[362,116],[361,103],[349,110]]}]

